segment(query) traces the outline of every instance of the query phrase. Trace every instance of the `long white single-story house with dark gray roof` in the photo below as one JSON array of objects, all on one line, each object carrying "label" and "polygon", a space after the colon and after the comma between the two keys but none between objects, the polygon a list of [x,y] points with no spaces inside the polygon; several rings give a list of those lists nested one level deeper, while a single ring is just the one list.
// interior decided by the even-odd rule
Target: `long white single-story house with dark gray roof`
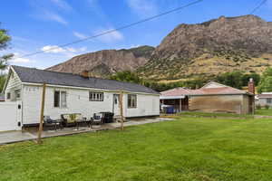
[{"label": "long white single-story house with dark gray roof", "polygon": [[[160,115],[160,93],[139,84],[11,66],[4,92],[5,103],[16,102],[19,110],[12,124],[15,129],[39,123],[43,83],[46,83],[44,115],[52,119],[61,119],[64,113],[82,113],[88,119],[101,111],[120,115],[121,91],[124,117]],[[0,110],[5,103],[0,105]],[[0,119],[0,127],[9,121],[14,120]]]}]

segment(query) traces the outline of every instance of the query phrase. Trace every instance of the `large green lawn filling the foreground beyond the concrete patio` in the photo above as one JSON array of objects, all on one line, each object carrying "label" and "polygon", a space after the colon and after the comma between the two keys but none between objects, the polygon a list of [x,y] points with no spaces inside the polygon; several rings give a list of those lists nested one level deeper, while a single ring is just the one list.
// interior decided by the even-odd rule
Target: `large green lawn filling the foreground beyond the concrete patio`
[{"label": "large green lawn filling the foreground beyond the concrete patio", "polygon": [[0,180],[271,181],[272,120],[182,118],[0,147]]}]

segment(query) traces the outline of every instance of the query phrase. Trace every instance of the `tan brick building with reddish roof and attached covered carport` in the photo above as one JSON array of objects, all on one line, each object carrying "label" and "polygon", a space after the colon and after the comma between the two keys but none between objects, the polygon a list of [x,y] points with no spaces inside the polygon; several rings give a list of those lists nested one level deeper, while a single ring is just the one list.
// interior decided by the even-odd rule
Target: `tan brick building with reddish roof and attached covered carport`
[{"label": "tan brick building with reddish roof and attached covered carport", "polygon": [[248,114],[254,112],[254,93],[210,81],[198,90],[175,88],[160,92],[160,104],[176,112],[206,111]]}]

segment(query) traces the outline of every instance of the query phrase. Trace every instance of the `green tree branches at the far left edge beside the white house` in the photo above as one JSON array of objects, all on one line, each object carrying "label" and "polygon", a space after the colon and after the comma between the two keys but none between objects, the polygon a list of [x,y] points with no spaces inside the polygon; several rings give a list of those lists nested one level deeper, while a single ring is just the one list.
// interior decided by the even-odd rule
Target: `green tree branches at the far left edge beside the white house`
[{"label": "green tree branches at the far left edge beside the white house", "polygon": [[[8,47],[8,43],[11,41],[11,37],[7,34],[5,29],[0,29],[0,51],[5,50]],[[5,82],[5,71],[8,65],[8,60],[13,57],[13,54],[5,54],[0,56],[0,92],[3,89]]]}]

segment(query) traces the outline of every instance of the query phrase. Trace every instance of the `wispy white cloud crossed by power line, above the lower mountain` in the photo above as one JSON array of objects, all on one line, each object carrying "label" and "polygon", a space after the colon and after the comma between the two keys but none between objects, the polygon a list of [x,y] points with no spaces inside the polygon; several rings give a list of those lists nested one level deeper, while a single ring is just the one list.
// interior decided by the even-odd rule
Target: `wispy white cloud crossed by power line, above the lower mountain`
[{"label": "wispy white cloud crossed by power line, above the lower mountain", "polygon": [[[109,31],[112,31],[114,28],[98,28],[96,31],[94,31],[94,35],[100,34],[100,33],[106,33]],[[114,43],[117,41],[121,41],[123,39],[122,33],[118,31],[114,31],[112,33],[106,33],[102,36],[99,36],[97,39],[104,42],[104,43]]]}]

